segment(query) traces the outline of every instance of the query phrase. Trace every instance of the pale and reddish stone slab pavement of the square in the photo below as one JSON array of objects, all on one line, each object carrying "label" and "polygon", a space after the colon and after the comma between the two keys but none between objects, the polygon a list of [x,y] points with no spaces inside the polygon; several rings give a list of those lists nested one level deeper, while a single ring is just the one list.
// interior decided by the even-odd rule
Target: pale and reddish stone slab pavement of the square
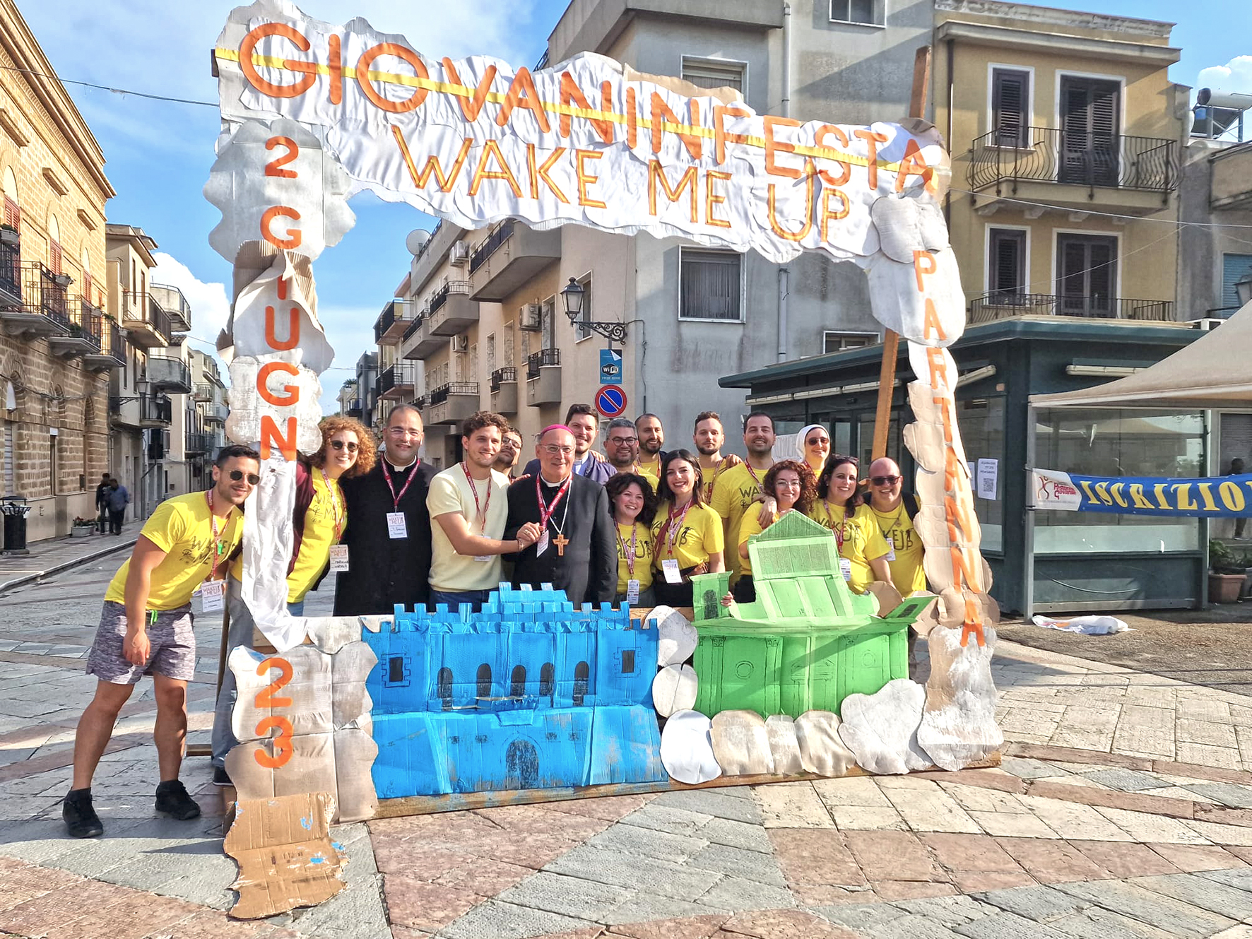
[{"label": "pale and reddish stone slab pavement of the square", "polygon": [[[208,761],[184,767],[203,819],[151,813],[150,685],[93,790],[106,836],[63,834],[74,722],[94,686],[83,657],[118,562],[4,600],[0,934],[1252,939],[1247,699],[1012,644],[994,666],[1010,741],[998,770],[346,825],[344,891],[229,920],[235,866]],[[198,635],[192,739],[207,741],[220,634]]]}]

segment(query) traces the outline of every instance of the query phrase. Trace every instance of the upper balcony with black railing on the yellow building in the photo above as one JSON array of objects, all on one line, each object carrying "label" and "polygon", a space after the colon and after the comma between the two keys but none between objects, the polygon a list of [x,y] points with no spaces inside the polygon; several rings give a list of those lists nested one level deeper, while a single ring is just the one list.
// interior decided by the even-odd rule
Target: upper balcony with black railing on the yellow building
[{"label": "upper balcony with black railing on the yellow building", "polygon": [[1178,141],[998,126],[973,143],[969,187],[982,203],[994,190],[997,197],[1047,197],[1044,202],[1065,208],[1099,203],[1123,205],[1134,214],[1157,212],[1178,188]]}]

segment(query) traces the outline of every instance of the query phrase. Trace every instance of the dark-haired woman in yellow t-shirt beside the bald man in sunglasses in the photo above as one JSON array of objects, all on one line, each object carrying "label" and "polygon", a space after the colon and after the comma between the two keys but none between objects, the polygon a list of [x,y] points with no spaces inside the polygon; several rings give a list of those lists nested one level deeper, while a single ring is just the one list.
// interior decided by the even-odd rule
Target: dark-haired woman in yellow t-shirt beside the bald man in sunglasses
[{"label": "dark-haired woman in yellow t-shirt beside the bald man in sunglasses", "polygon": [[890,583],[891,568],[886,563],[890,548],[856,491],[858,476],[856,457],[830,457],[818,478],[818,500],[809,517],[835,533],[839,570],[854,593],[864,593],[873,581]]}]

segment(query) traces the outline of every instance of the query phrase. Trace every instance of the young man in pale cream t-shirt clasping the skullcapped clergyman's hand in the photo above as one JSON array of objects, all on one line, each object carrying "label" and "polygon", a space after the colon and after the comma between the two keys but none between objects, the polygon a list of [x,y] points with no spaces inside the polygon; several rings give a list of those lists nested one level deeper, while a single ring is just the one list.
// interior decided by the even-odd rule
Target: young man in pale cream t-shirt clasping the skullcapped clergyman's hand
[{"label": "young man in pale cream t-shirt clasping the skullcapped clergyman's hand", "polygon": [[492,470],[508,421],[492,411],[477,411],[461,426],[464,462],[431,480],[426,508],[431,520],[431,605],[487,600],[503,575],[500,556],[516,553],[540,537],[528,522],[517,537],[502,541],[508,521],[508,477]]}]

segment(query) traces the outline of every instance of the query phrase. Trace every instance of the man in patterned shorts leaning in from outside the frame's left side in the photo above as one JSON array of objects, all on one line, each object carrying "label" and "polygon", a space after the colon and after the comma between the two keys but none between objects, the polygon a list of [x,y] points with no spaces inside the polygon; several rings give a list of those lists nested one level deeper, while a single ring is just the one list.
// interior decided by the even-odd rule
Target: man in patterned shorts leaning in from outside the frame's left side
[{"label": "man in patterned shorts leaning in from outside the frame's left side", "polygon": [[156,811],[182,820],[199,816],[200,806],[178,779],[187,739],[187,682],[195,672],[192,595],[212,582],[213,592],[202,593],[205,612],[223,607],[227,558],[243,538],[243,510],[235,510],[259,482],[259,472],[254,449],[223,447],[213,466],[213,488],[163,502],[109,583],[86,661],[88,674],[99,681],[79,719],[74,782],[61,809],[74,838],[104,833],[91,806],[91,776],[118,712],[145,672],[153,675],[156,691]]}]

